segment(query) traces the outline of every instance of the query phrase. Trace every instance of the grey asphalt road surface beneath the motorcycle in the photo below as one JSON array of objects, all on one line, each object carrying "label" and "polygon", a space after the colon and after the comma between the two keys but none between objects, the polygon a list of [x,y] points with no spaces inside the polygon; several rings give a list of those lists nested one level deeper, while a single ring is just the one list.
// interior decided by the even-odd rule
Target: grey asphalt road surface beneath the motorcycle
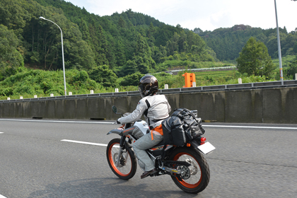
[{"label": "grey asphalt road surface beneath the motorcycle", "polygon": [[0,119],[0,198],[297,197],[297,124],[205,123],[211,179],[187,194],[168,175],[141,180],[140,168],[118,179],[105,156],[118,125],[106,122]]}]

